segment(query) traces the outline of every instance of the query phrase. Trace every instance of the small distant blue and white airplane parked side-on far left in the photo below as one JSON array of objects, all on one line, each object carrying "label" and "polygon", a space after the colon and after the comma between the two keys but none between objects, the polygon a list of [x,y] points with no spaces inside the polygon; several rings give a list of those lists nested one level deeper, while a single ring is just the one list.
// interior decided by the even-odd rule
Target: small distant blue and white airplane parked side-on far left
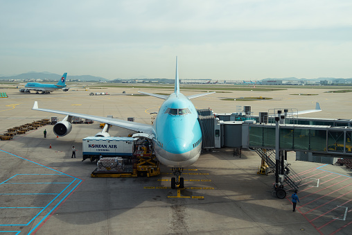
[{"label": "small distant blue and white airplane parked side-on far left", "polygon": [[28,82],[24,88],[19,89],[19,92],[30,93],[30,91],[35,91],[37,93],[42,92],[42,94],[49,94],[57,89],[62,89],[62,91],[67,92],[69,88],[66,85],[67,73],[64,73],[58,83],[56,84],[44,84],[38,82]]}]

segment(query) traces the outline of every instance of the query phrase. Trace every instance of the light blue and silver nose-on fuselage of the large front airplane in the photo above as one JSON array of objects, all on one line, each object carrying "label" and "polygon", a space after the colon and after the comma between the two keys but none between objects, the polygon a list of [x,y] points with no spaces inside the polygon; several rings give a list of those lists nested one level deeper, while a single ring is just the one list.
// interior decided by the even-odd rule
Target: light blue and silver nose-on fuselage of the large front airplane
[{"label": "light blue and silver nose-on fuselage of the large front airplane", "polygon": [[160,107],[152,131],[155,153],[162,164],[190,166],[200,156],[202,131],[197,110],[183,94],[168,96]]}]

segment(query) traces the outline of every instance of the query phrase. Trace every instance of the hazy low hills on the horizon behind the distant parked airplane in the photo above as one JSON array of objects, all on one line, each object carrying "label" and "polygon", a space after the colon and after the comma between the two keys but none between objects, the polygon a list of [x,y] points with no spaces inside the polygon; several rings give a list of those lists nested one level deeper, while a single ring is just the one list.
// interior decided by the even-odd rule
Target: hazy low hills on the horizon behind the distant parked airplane
[{"label": "hazy low hills on the horizon behind the distant parked airplane", "polygon": [[[21,73],[19,75],[15,76],[1,76],[0,80],[11,80],[11,79],[21,79],[21,80],[26,80],[26,79],[42,79],[42,80],[59,80],[61,78],[62,74],[57,74],[57,73],[49,73],[49,72],[28,72],[28,73]],[[109,81],[106,78],[102,77],[96,77],[96,76],[91,76],[91,75],[67,75],[67,79],[79,79],[81,81]]]}]

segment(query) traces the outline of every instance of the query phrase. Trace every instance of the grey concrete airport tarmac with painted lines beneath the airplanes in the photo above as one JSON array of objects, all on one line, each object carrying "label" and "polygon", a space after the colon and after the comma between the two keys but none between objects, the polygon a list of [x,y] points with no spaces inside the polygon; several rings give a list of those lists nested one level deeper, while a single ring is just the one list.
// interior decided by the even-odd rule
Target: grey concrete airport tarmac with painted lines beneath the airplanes
[{"label": "grey concrete airport tarmac with painted lines beneath the airplanes", "polygon": [[[171,93],[173,87],[78,89],[52,94],[1,89],[9,98],[0,100],[0,134],[58,116],[31,110],[34,101],[43,108],[113,115],[123,120],[134,117],[134,121],[151,123],[155,114],[150,113],[159,110],[162,100],[136,96],[139,90]],[[304,116],[351,119],[352,110],[346,108],[351,107],[351,94],[324,93],[328,90],[333,89],[216,93],[192,101],[197,108],[210,107],[218,113],[251,105],[256,114],[275,107],[310,110],[319,101],[323,111]],[[90,92],[110,95],[89,96]],[[290,95],[298,93],[317,95]],[[221,100],[242,96],[273,99]],[[288,153],[288,162],[303,179],[300,202],[293,212],[292,191],[285,199],[276,198],[274,174],[258,175],[261,159],[250,150],[243,150],[241,156],[234,155],[231,148],[202,153],[184,171],[184,190],[170,189],[171,170],[166,166],[161,166],[157,177],[91,177],[96,164],[82,162],[82,139],[100,132],[98,125],[73,124],[65,137],[56,137],[52,126],[46,125],[0,141],[1,234],[352,234],[352,173],[344,166],[299,162],[295,153]],[[109,133],[125,137],[130,131],[112,127]],[[78,150],[76,159],[71,158],[72,146]]]}]

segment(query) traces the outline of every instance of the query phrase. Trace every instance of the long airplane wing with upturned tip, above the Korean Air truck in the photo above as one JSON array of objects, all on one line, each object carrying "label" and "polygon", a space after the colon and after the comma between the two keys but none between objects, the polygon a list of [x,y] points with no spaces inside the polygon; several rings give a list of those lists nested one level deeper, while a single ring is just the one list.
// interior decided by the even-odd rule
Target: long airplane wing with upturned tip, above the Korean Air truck
[{"label": "long airplane wing with upturned tip, above the Korean Air truck", "polygon": [[147,134],[152,134],[152,125],[148,125],[148,124],[144,124],[144,123],[136,123],[133,121],[124,121],[124,120],[119,120],[119,119],[105,118],[103,116],[93,116],[93,115],[76,114],[73,112],[64,112],[64,111],[58,111],[58,110],[40,109],[38,107],[37,101],[34,102],[32,110],[43,111],[43,112],[52,112],[55,114],[63,114],[63,115],[69,115],[69,116],[76,116],[76,117],[80,117],[82,119],[91,119],[94,121],[99,121],[100,123],[107,123],[110,125],[116,125],[120,128],[133,130],[135,132],[143,132],[143,133],[147,133]]}]

